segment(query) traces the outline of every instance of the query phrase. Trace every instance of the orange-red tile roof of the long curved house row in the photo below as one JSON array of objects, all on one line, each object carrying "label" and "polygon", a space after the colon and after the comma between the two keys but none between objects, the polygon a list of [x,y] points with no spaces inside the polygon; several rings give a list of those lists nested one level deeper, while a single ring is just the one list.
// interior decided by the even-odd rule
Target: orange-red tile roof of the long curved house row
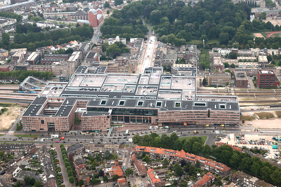
[{"label": "orange-red tile roof of the long curved house row", "polygon": [[157,154],[162,154],[162,155],[170,155],[170,156],[174,156],[174,157],[181,157],[181,158],[185,158],[187,160],[192,160],[195,162],[200,162],[204,165],[208,165],[211,167],[215,167],[216,169],[222,170],[222,171],[228,171],[230,168],[227,167],[226,165],[223,165],[219,162],[210,160],[210,159],[206,159],[204,157],[200,157],[197,155],[193,155],[190,153],[186,153],[184,152],[184,150],[178,151],[178,150],[172,150],[172,149],[164,149],[164,148],[155,148],[155,147],[145,147],[145,146],[136,146],[133,151],[143,151],[140,150],[143,149],[145,152],[149,152],[149,153],[157,153]]}]

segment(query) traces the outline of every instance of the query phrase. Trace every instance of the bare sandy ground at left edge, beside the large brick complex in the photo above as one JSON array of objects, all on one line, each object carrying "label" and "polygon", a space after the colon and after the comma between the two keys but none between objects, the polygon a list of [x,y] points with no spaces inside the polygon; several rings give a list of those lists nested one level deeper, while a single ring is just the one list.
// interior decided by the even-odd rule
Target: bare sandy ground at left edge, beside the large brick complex
[{"label": "bare sandy ground at left edge, beside the large brick complex", "polygon": [[[2,108],[4,107],[0,107],[0,110]],[[8,110],[0,115],[0,130],[9,129],[20,115],[20,112],[18,111],[23,109],[20,105],[13,105],[5,108],[8,108]]]}]

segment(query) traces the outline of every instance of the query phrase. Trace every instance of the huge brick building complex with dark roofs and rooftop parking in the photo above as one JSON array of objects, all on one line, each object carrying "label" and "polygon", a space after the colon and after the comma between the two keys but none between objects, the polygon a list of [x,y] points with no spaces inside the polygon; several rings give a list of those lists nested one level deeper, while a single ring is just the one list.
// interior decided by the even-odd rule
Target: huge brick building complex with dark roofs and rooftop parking
[{"label": "huge brick building complex with dark roofs and rooftop parking", "polygon": [[[69,60],[68,60],[69,61]],[[80,66],[69,82],[49,82],[22,116],[25,131],[69,131],[75,117],[82,130],[107,131],[111,124],[238,124],[237,96],[196,94],[196,68],[186,76],[106,73]]]}]

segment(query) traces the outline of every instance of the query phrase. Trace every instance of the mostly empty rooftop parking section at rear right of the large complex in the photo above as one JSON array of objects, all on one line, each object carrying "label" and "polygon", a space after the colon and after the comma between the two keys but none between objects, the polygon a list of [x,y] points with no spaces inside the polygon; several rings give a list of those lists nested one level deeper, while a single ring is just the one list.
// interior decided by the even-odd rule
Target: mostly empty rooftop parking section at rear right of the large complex
[{"label": "mostly empty rooftop parking section at rear right of the large complex", "polygon": [[171,89],[195,89],[195,79],[193,77],[173,77]]}]

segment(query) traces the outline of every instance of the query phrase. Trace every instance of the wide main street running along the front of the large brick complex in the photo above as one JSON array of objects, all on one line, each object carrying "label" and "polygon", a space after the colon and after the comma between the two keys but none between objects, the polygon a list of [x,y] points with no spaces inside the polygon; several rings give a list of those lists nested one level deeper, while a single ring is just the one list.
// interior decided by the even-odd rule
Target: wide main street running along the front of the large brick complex
[{"label": "wide main street running along the front of the large brick complex", "polygon": [[[54,139],[50,139],[51,135],[47,135],[47,134],[38,134],[37,135],[37,139],[34,139],[32,137],[30,138],[18,138],[16,136],[14,136],[13,134],[5,134],[3,135],[0,139],[0,142],[11,142],[11,143],[32,143],[32,142],[36,142],[36,143],[40,143],[40,144],[60,144],[63,143],[63,141],[66,142],[66,144],[74,144],[77,142],[80,143],[98,143],[100,142],[101,144],[103,142],[105,142],[106,144],[116,144],[119,145],[122,142],[125,143],[132,143],[132,137],[134,136],[134,134],[137,132],[138,134],[140,134],[141,136],[144,136],[145,134],[151,134],[152,132],[157,133],[159,136],[161,136],[162,134],[167,134],[168,136],[170,136],[173,131],[177,131],[176,134],[180,135],[180,137],[186,137],[186,136],[208,136],[208,139],[206,141],[206,144],[208,145],[212,145],[215,141],[215,138],[217,136],[222,136],[223,134],[239,134],[239,133],[243,133],[243,134],[251,134],[251,135],[268,135],[268,136],[273,136],[273,135],[278,135],[281,133],[281,130],[277,130],[277,129],[261,129],[258,128],[259,131],[254,131],[254,127],[235,127],[235,126],[229,126],[229,127],[220,127],[217,126],[215,127],[208,127],[208,128],[203,128],[203,127],[189,127],[189,128],[184,128],[181,127],[180,129],[178,128],[171,128],[171,129],[162,129],[162,130],[157,130],[157,131],[150,131],[148,129],[139,129],[137,131],[132,130],[129,131],[128,135],[124,135],[124,131],[119,132],[118,136],[115,134],[115,136],[113,136],[112,134],[110,136],[107,136],[107,133],[102,133],[102,134],[77,134],[77,135],[59,135],[59,138],[61,137],[65,137],[65,139],[60,140],[59,138],[54,138]],[[196,130],[198,131],[198,134],[193,134],[193,131]],[[261,133],[260,131],[263,131],[263,133]],[[23,134],[21,136],[24,136],[26,134],[28,134],[29,132],[23,132]],[[32,133],[33,134],[33,133]],[[183,136],[183,134],[186,134],[185,136]],[[34,134],[33,134],[34,135]],[[5,138],[5,139],[4,139]],[[10,140],[11,138],[11,140]],[[17,139],[16,139],[17,138]],[[119,139],[117,139],[119,138]],[[13,141],[13,139],[16,139],[16,141]],[[69,140],[69,141],[68,141]],[[128,141],[127,141],[128,140]],[[59,141],[59,143],[56,143],[56,141]]]}]

